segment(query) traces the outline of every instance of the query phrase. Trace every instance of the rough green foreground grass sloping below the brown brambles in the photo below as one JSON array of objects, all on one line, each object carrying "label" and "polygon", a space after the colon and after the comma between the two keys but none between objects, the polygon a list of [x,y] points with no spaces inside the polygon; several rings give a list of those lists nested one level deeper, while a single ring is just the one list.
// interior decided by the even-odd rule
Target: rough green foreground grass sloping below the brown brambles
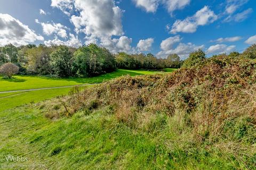
[{"label": "rough green foreground grass sloping below the brown brambles", "polygon": [[[234,160],[222,159],[218,150],[177,143],[163,115],[156,122],[162,128],[148,133],[118,123],[111,107],[51,121],[43,104],[31,106],[0,114],[2,169],[235,169]],[[7,155],[28,161],[7,162]]]}]

